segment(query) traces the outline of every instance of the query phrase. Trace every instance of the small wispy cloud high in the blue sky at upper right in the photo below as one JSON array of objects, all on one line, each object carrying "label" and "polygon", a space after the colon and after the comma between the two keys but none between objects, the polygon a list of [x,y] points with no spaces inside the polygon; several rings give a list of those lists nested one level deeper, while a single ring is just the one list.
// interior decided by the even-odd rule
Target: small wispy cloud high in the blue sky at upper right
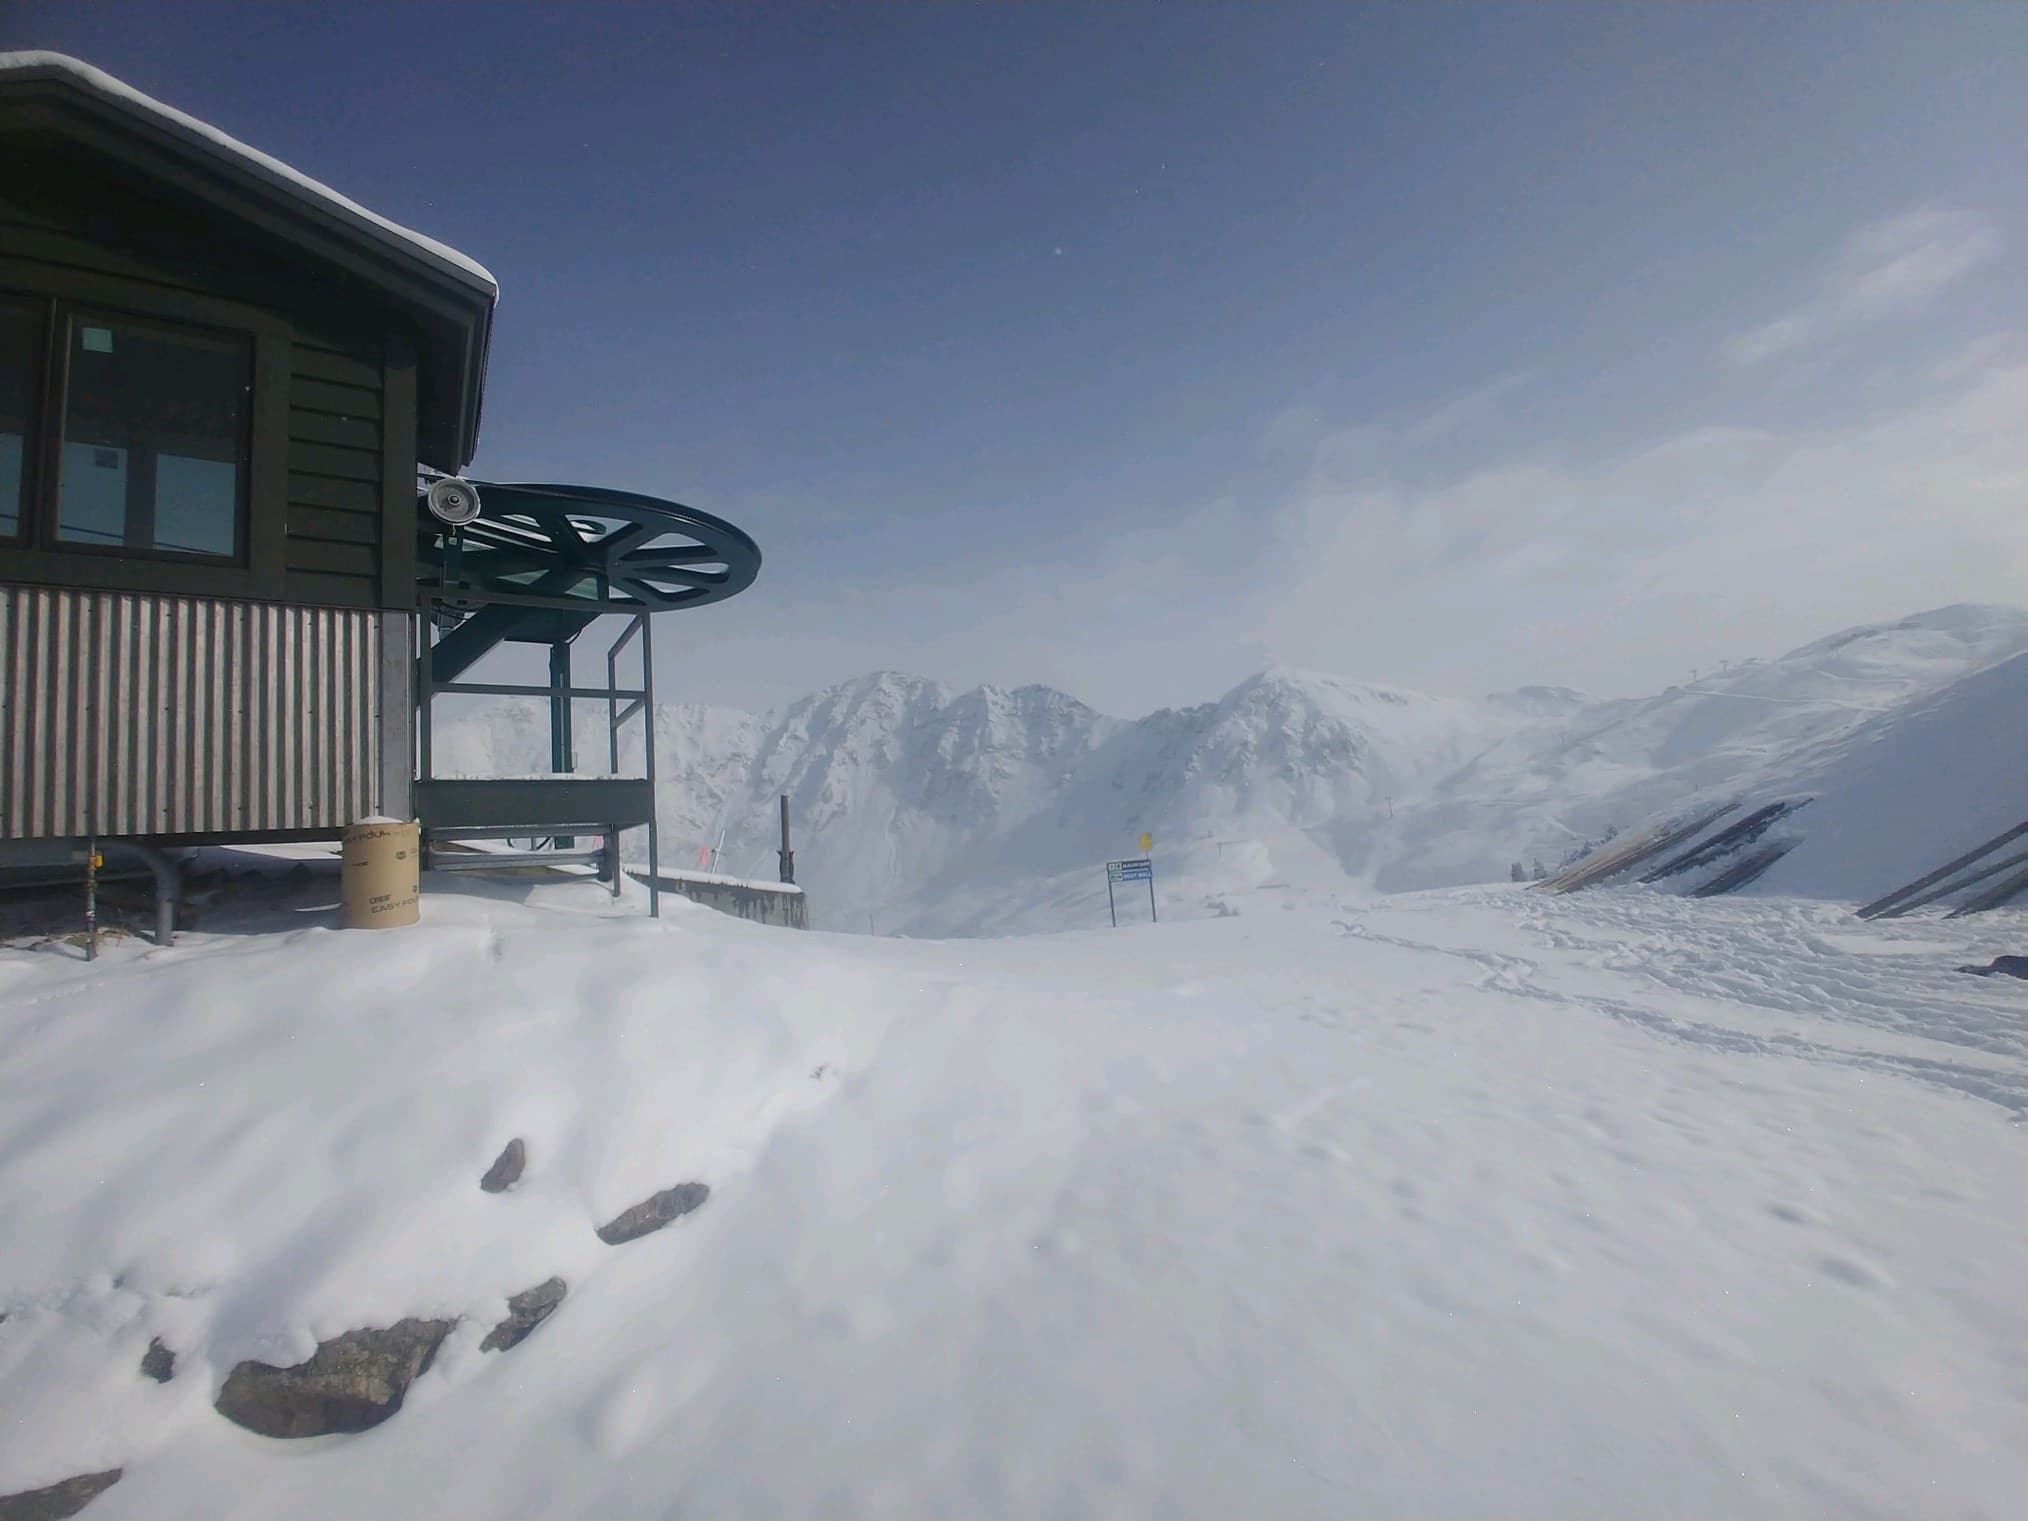
[{"label": "small wispy cloud high in the blue sky at upper right", "polygon": [[1983,217],[1921,207],[1852,233],[1815,292],[1795,310],[1720,345],[1732,365],[1770,359],[1835,339],[1856,327],[1921,312],[1998,249]]}]

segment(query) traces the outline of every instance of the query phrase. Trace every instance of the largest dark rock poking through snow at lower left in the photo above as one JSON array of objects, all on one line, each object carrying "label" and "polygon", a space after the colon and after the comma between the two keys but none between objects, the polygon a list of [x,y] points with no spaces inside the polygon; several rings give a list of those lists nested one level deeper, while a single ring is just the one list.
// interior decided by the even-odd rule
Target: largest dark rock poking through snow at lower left
[{"label": "largest dark rock poking through snow at lower left", "polygon": [[215,1401],[229,1422],[262,1436],[365,1432],[402,1409],[456,1320],[397,1320],[318,1343],[308,1363],[241,1363]]}]

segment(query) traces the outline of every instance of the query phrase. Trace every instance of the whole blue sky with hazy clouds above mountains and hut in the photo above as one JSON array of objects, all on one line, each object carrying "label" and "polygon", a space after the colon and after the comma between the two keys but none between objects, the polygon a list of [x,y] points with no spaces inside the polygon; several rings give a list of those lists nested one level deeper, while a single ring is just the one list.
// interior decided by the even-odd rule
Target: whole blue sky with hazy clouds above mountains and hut
[{"label": "whole blue sky with hazy clouds above mountains and hut", "polygon": [[2028,584],[2028,8],[8,6],[501,280],[671,698],[1655,690]]}]

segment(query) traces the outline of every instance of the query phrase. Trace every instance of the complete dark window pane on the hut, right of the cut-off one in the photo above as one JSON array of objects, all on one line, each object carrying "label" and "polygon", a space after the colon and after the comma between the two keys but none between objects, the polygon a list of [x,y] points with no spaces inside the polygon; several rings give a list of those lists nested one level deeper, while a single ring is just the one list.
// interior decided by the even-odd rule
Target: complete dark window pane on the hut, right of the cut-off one
[{"label": "complete dark window pane on the hut, right of the cut-off one", "polygon": [[57,537],[237,558],[249,345],[77,314],[69,349]]}]

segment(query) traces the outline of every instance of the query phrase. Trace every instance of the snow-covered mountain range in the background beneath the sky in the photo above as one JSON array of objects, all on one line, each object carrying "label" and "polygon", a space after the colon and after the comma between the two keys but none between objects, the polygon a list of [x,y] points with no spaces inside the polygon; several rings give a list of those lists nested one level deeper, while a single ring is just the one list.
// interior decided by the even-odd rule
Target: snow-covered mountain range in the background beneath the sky
[{"label": "snow-covered mountain range in the background beneath the sky", "polygon": [[[1706,795],[1809,791],[1811,829],[1843,844],[1799,850],[1766,888],[1864,896],[2028,815],[2024,655],[2028,612],[1951,606],[1639,700],[1460,702],[1274,669],[1138,720],[882,671],[765,716],[659,708],[661,850],[694,864],[722,834],[718,870],[771,876],[787,793],[817,923],[1000,933],[1103,921],[1097,866],[1142,831],[1164,898],[1215,913],[1272,882],[1505,880]],[[600,720],[580,726],[590,760]],[[460,716],[436,752],[446,775],[539,769],[546,712]],[[1868,825],[1880,809],[1892,821]]]}]

